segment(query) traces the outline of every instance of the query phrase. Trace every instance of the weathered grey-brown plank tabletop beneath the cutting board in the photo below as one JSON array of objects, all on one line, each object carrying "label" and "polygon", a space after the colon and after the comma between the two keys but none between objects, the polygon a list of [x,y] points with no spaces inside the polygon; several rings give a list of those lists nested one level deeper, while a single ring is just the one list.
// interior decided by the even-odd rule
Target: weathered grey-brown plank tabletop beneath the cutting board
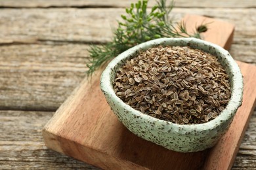
[{"label": "weathered grey-brown plank tabletop beneath the cutting board", "polygon": [[[0,169],[98,169],[46,148],[41,129],[85,77],[89,45],[110,41],[130,3],[0,0]],[[172,14],[235,24],[230,53],[256,64],[255,0],[180,0]],[[255,141],[253,112],[232,169],[256,169]]]}]

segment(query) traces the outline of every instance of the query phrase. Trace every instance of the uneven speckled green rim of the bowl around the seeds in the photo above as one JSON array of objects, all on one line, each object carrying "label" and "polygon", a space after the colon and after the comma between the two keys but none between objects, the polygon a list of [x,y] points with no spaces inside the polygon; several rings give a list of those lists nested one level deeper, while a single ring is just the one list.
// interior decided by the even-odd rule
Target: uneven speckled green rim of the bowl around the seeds
[{"label": "uneven speckled green rim of the bowl around the seeds", "polygon": [[[152,46],[159,46],[159,45],[168,45],[165,43],[168,42],[184,42],[187,45],[190,46],[191,44],[197,44],[196,46],[201,49],[200,46],[205,46],[209,48],[211,46],[214,51],[219,52],[219,54],[224,55],[224,58],[226,58],[226,66],[230,69],[230,76],[232,81],[232,91],[231,91],[231,97],[230,101],[228,102],[228,105],[226,108],[213,120],[203,123],[203,124],[175,124],[173,122],[167,122],[165,120],[160,120],[158,118],[154,118],[152,116],[149,116],[147,114],[143,114],[139,110],[133,109],[131,106],[125,104],[119,97],[117,97],[116,93],[114,92],[114,89],[112,88],[112,81],[111,81],[111,75],[116,71],[117,65],[121,65],[123,61],[128,58],[131,55],[135,55],[140,50],[146,50],[147,48],[150,48]],[[181,46],[177,44],[176,46]],[[193,47],[192,47],[193,48]],[[207,50],[205,50],[207,52]],[[115,69],[116,67],[116,69]],[[209,129],[216,129],[217,127],[221,126],[224,122],[227,122],[229,120],[232,120],[232,117],[234,114],[236,114],[236,110],[242,105],[242,97],[243,97],[243,77],[242,73],[240,71],[240,68],[238,67],[238,64],[232,56],[230,56],[229,52],[224,50],[221,46],[218,46],[217,44],[213,44],[211,42],[203,41],[201,39],[196,38],[161,38],[161,39],[154,39],[152,41],[143,42],[141,44],[138,44],[137,46],[134,46],[132,48],[129,48],[125,52],[119,54],[116,58],[114,58],[110,63],[108,63],[108,66],[104,71],[102,72],[102,75],[100,77],[100,88],[102,92],[104,92],[104,95],[109,95],[112,97],[112,99],[121,105],[121,107],[129,110],[136,116],[141,116],[142,119],[146,119],[148,122],[154,122],[154,125],[156,128],[160,127],[162,124],[165,124],[166,126],[171,126],[173,131],[176,131],[177,133],[183,133],[183,134],[193,134],[198,132],[207,131]]]}]

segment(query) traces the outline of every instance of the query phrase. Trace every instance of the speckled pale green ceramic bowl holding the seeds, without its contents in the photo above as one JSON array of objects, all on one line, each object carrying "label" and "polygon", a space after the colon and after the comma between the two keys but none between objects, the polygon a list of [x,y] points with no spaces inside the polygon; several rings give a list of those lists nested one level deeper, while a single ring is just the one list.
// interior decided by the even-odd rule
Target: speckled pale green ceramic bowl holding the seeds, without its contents
[{"label": "speckled pale green ceramic bowl holding the seeds, without its contents", "polygon": [[[112,86],[117,69],[125,60],[137,56],[139,51],[159,45],[190,46],[191,48],[209,52],[219,58],[219,61],[230,76],[232,93],[228,105],[214,120],[196,125],[173,124],[143,114],[123,103],[117,97]],[[135,135],[170,150],[196,152],[216,144],[230,126],[236,110],[242,104],[243,78],[237,63],[220,46],[194,38],[163,38],[134,46],[113,59],[102,73],[100,88],[119,121]]]}]

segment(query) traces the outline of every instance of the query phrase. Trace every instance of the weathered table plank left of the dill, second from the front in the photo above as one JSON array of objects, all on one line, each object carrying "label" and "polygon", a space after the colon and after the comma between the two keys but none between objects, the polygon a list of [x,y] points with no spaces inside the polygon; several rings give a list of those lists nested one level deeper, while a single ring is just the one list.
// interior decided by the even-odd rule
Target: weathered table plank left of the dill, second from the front
[{"label": "weathered table plank left of the dill, second from the front", "polygon": [[0,109],[55,111],[85,76],[83,44],[0,46]]}]

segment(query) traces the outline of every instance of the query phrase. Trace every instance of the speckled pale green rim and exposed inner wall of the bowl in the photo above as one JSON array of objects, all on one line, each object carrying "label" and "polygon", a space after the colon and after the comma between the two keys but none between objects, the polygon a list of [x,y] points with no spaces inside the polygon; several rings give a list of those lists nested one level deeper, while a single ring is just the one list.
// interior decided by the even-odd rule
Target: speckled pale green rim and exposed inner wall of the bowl
[{"label": "speckled pale green rim and exposed inner wall of the bowl", "polygon": [[[228,51],[224,50],[220,46],[217,46],[216,44],[202,41],[200,39],[162,38],[162,39],[156,39],[153,41],[144,42],[142,44],[134,46],[133,48],[130,48],[129,50],[123,52],[122,54],[119,54],[119,56],[114,58],[102,73],[102,76],[101,76],[102,91],[105,94],[111,95],[113,99],[116,100],[117,102],[121,102],[121,105],[123,105],[123,107],[126,107],[126,108],[128,107],[138,115],[143,114],[139,110],[135,110],[129,105],[126,105],[125,103],[123,103],[123,101],[121,101],[121,99],[119,99],[119,97],[117,97],[116,93],[113,90],[113,82],[114,82],[114,78],[116,76],[117,70],[119,69],[119,67],[121,67],[121,65],[123,65],[123,63],[125,63],[127,59],[131,59],[137,56],[137,54],[139,54],[140,51],[144,51],[148,48],[160,46],[160,45],[161,46],[190,46],[191,48],[203,50],[205,52],[213,54],[214,56],[217,56],[219,62],[221,63],[221,65],[223,65],[224,69],[226,70],[226,73],[229,75],[229,81],[231,86],[230,101],[228,102],[228,105],[223,110],[223,112],[221,112],[221,114],[219,114],[219,116],[217,116],[215,119],[203,124],[192,124],[192,125],[180,125],[180,124],[174,124],[171,122],[167,122],[167,123],[173,124],[173,126],[177,126],[177,127],[182,126],[184,127],[184,129],[188,131],[192,131],[192,129],[194,128],[205,131],[205,129],[207,128],[214,128],[216,126],[219,126],[221,122],[230,120],[230,118],[232,118],[234,114],[236,114],[236,110],[242,104],[242,94],[243,94],[242,73],[240,72],[240,69],[237,63],[230,56]],[[143,114],[143,117],[146,119],[150,119],[150,121],[152,122],[156,122],[156,121],[166,122],[164,120],[159,120],[157,118],[153,118],[146,114]]]}]

